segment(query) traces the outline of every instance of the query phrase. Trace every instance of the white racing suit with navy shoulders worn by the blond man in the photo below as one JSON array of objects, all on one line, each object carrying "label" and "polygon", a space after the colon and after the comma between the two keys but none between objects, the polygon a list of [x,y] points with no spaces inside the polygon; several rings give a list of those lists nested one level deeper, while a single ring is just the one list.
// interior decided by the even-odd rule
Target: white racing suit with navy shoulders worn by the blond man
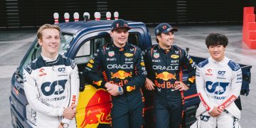
[{"label": "white racing suit with navy shoulders worn by the blond man", "polygon": [[62,117],[65,107],[78,104],[79,75],[74,60],[40,55],[24,66],[23,80],[28,104],[36,110],[37,127],[56,128],[60,122],[76,127],[75,118]]}]

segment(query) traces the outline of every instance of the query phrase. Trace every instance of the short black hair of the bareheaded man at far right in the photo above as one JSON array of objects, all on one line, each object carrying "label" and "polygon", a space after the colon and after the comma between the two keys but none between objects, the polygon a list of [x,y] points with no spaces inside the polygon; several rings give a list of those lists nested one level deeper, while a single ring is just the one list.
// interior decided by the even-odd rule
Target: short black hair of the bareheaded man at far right
[{"label": "short black hair of the bareheaded man at far right", "polygon": [[220,33],[210,33],[206,37],[206,46],[209,48],[209,46],[228,46],[228,38],[227,36],[220,34]]}]

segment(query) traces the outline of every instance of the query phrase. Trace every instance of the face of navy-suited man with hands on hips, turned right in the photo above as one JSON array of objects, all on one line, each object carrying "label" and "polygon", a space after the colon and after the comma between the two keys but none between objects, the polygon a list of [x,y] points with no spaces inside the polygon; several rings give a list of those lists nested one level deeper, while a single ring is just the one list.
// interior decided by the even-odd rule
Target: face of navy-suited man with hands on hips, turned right
[{"label": "face of navy-suited man with hands on hips, turned right", "polygon": [[169,33],[161,33],[161,35],[156,36],[159,40],[159,46],[163,49],[170,49],[174,43],[174,32],[170,31]]}]

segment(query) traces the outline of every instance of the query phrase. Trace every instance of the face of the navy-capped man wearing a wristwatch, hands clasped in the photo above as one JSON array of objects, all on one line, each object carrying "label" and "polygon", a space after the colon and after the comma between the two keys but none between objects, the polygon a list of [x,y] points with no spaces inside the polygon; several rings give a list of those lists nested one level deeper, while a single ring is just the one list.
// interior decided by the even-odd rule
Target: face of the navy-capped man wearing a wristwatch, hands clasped
[{"label": "face of the navy-capped man wearing a wristwatch, hands clasped", "polygon": [[127,43],[129,36],[127,28],[118,28],[110,32],[110,36],[113,38],[113,43],[115,46],[122,48]]}]

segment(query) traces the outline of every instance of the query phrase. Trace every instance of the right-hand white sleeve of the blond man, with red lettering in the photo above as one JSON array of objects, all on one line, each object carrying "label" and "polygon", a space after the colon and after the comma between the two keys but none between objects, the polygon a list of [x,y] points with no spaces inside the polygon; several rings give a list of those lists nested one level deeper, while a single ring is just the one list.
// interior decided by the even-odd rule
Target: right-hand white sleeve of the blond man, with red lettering
[{"label": "right-hand white sleeve of the blond man, with red lettering", "polygon": [[[75,68],[71,71],[70,74],[70,98],[67,102],[67,105],[65,105],[66,107],[70,107],[71,105],[78,105],[79,87],[80,80],[78,75],[78,66],[75,65]],[[63,118],[61,122],[69,124],[70,119]]]}]

